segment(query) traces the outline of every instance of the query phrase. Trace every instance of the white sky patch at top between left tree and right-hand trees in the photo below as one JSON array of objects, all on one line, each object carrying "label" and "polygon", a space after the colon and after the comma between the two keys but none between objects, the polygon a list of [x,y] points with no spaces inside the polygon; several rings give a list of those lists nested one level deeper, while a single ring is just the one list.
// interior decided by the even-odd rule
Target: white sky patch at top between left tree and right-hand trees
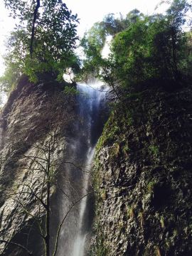
[{"label": "white sky patch at top between left tree and right-hand trees", "polygon": [[[64,0],[68,9],[78,14],[80,25],[78,32],[80,36],[93,23],[102,21],[102,18],[110,13],[126,15],[133,9],[139,9],[144,14],[153,14],[154,9],[160,0]],[[163,12],[165,6],[159,7],[158,11]]]}]

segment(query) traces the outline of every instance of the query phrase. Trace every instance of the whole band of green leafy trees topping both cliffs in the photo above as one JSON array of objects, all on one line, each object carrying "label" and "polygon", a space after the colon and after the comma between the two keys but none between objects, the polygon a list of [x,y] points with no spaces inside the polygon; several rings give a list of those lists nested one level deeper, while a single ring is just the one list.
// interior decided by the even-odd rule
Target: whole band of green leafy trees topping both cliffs
[{"label": "whole band of green leafy trees topping both cliffs", "polygon": [[[6,7],[17,22],[7,41],[1,90],[9,92],[22,74],[33,82],[43,73],[62,81],[68,68],[73,69],[75,80],[85,80],[90,74],[104,80],[119,98],[126,98],[129,90],[146,81],[150,84],[159,80],[161,84],[162,80],[170,87],[175,81],[179,86],[190,78],[188,1],[173,1],[166,14],[146,16],[137,9],[125,18],[108,14],[81,40],[77,36],[77,14],[73,15],[61,1],[43,1],[41,7],[36,2],[30,6],[25,1],[6,1]],[[101,51],[107,36],[112,36],[112,43],[106,59]],[[85,52],[83,60],[74,51],[77,47]]]}]

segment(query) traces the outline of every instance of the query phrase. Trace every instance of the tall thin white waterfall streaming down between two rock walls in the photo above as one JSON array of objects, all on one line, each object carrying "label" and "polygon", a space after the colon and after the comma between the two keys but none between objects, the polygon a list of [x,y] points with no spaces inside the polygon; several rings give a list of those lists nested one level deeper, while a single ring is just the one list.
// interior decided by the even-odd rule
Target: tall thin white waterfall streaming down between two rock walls
[{"label": "tall thin white waterfall streaming down between two rock walls", "polygon": [[[70,206],[75,206],[63,224],[57,256],[85,256],[92,222],[90,171],[95,144],[102,132],[106,88],[102,82],[79,83],[78,110],[74,131],[68,138],[67,156],[59,178],[60,191],[54,211],[61,221]],[[87,195],[87,196],[86,196]],[[76,203],[78,201],[78,203]]]}]

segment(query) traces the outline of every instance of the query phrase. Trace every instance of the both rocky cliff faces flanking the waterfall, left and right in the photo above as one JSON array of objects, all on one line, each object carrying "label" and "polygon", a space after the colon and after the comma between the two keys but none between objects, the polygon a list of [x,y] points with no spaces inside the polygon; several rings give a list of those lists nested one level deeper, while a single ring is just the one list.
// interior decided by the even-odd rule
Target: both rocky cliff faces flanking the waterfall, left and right
[{"label": "both rocky cliff faces flanking the waterfall, left and right", "polygon": [[[1,113],[0,240],[27,241],[29,250],[40,240],[28,228],[44,214],[33,193],[46,195],[39,159],[51,138],[55,173],[65,159],[75,104],[62,90],[23,77]],[[92,255],[192,254],[191,100],[190,86],[153,87],[112,112],[95,154]],[[0,254],[26,252],[1,242]]]}]

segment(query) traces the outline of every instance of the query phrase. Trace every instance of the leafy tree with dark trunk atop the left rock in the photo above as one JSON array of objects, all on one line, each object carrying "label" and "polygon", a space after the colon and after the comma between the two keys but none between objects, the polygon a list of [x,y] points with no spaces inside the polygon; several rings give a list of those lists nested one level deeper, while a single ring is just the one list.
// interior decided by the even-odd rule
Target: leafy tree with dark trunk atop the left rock
[{"label": "leafy tree with dark trunk atop the left rock", "polygon": [[14,65],[19,74],[28,75],[33,82],[40,73],[51,73],[60,80],[65,68],[76,66],[78,58],[73,50],[78,39],[78,16],[61,0],[19,0],[5,4],[17,21],[5,56],[6,73]]}]

